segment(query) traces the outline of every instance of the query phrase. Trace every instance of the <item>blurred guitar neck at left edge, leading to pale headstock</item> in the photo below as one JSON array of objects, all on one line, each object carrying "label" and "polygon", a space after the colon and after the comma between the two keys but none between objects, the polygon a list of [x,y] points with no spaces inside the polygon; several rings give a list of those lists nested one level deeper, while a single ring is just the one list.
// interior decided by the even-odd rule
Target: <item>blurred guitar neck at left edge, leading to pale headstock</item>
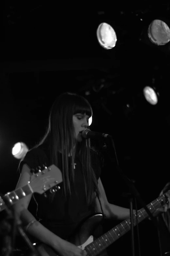
[{"label": "blurred guitar neck at left edge, leading to pale headstock", "polygon": [[31,193],[33,193],[33,190],[29,184],[26,184],[21,188],[7,193],[2,197],[2,199],[0,198],[0,212],[5,210],[5,202],[7,202],[8,205],[13,205],[14,203],[18,202],[20,199],[28,196]]}]

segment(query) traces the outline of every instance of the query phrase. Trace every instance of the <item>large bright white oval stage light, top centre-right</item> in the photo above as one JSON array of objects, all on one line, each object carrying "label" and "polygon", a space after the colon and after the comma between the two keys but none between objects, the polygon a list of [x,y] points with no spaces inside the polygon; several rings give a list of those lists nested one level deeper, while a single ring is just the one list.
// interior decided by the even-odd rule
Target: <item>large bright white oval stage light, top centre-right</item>
[{"label": "large bright white oval stage light, top centre-right", "polygon": [[112,49],[117,41],[115,30],[109,24],[101,23],[97,29],[97,39],[103,48]]}]

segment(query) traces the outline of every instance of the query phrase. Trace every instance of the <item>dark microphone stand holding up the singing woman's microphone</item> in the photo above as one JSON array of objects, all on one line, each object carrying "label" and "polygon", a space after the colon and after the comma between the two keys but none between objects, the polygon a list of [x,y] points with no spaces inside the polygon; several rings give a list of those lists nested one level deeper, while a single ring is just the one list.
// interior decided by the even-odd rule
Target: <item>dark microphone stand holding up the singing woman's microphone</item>
[{"label": "dark microphone stand holding up the singing woman's microphone", "polygon": [[[140,194],[137,191],[137,189],[135,188],[135,186],[133,185],[133,182],[123,173],[122,169],[120,168],[119,163],[118,163],[118,159],[117,159],[117,154],[116,154],[116,149],[115,149],[115,144],[114,144],[113,138],[111,136],[107,136],[106,137],[106,143],[110,144],[110,139],[112,141],[112,145],[113,145],[113,148],[114,148],[114,151],[115,151],[116,162],[117,162],[117,167],[116,167],[117,172],[119,173],[119,175],[121,176],[121,178],[123,179],[125,184],[128,186],[128,188],[130,190],[130,194],[131,194],[131,196],[130,196],[131,249],[132,249],[132,256],[134,256],[135,255],[135,249],[134,249],[135,247],[134,247],[134,227],[133,227],[133,198],[136,198],[138,200],[138,202],[141,204],[141,206],[146,210],[148,216],[153,221],[153,223],[158,228],[158,230],[159,230],[159,225],[158,225],[157,219],[153,217],[153,215],[151,214],[151,212],[147,208],[145,202],[140,197]],[[108,151],[108,156],[109,156],[110,161],[113,162],[113,157],[110,155],[109,151]]]}]

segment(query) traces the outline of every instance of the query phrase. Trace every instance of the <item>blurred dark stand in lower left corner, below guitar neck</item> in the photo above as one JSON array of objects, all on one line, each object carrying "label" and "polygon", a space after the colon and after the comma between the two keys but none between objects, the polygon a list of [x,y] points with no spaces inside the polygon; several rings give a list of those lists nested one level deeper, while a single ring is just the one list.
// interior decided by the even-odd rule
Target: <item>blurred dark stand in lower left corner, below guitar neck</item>
[{"label": "blurred dark stand in lower left corner, below guitar neck", "polygon": [[[0,193],[1,194],[1,193]],[[11,209],[10,204],[6,200],[2,200],[3,195],[0,195],[0,200],[5,206],[5,211],[7,213],[7,217],[0,224],[0,233],[4,235],[4,242],[5,246],[2,248],[2,252],[4,256],[12,256],[13,249],[15,244],[15,236],[16,232],[18,231],[19,234],[23,237],[23,240],[26,242],[27,246],[33,252],[33,256],[40,256],[39,252],[31,243],[30,239],[26,235],[23,227],[22,222],[17,216],[14,214],[14,210]]]}]

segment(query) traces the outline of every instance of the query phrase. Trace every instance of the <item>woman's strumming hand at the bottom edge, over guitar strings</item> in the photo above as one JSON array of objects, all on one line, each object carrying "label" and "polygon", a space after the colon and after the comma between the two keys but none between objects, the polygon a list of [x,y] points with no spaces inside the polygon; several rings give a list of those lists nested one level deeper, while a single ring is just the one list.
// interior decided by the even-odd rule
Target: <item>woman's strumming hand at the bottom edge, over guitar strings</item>
[{"label": "woman's strumming hand at the bottom edge, over guitar strings", "polygon": [[77,246],[65,241],[57,249],[57,252],[62,256],[87,256],[87,252]]}]

